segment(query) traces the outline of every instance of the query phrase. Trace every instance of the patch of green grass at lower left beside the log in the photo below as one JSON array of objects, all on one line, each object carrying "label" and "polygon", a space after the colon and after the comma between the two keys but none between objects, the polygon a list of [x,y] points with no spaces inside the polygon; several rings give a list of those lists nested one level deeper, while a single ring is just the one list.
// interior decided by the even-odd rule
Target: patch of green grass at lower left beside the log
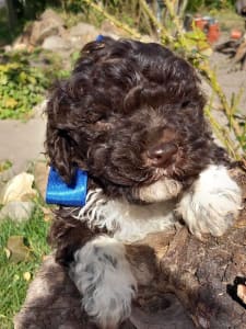
[{"label": "patch of green grass at lower left beside the log", "polygon": [[[24,302],[30,282],[24,273],[30,272],[33,279],[42,259],[49,253],[46,236],[49,224],[43,218],[40,208],[36,208],[32,218],[23,224],[11,220],[0,223],[0,328],[13,328],[12,319]],[[5,253],[10,236],[23,236],[32,251],[30,261],[13,263]]]}]

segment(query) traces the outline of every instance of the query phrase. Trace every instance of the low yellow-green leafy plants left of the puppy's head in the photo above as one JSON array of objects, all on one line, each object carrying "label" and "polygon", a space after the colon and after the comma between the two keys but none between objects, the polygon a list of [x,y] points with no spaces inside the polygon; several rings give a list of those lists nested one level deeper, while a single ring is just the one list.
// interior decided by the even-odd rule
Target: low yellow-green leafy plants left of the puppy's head
[{"label": "low yellow-green leafy plants left of the puppy's head", "polygon": [[68,71],[59,58],[36,49],[15,52],[0,57],[0,120],[26,118],[42,101],[54,79]]}]

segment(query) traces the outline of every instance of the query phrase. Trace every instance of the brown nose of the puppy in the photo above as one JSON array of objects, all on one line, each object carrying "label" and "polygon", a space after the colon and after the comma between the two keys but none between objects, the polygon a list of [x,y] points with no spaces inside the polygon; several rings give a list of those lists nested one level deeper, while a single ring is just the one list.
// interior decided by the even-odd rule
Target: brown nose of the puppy
[{"label": "brown nose of the puppy", "polygon": [[152,166],[162,167],[169,164],[174,161],[174,155],[177,152],[178,148],[173,143],[162,143],[156,146],[151,147],[147,156]]}]

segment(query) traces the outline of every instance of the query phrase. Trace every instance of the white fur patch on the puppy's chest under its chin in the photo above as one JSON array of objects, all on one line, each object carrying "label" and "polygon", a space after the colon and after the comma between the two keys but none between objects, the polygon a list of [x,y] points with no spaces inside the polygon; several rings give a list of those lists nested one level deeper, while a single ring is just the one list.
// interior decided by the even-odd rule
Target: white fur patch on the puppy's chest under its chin
[{"label": "white fur patch on the puppy's chest under its chin", "polygon": [[107,229],[119,241],[133,242],[174,225],[174,207],[173,201],[136,205],[110,200],[96,189],[87,193],[86,204],[75,218],[91,228]]}]

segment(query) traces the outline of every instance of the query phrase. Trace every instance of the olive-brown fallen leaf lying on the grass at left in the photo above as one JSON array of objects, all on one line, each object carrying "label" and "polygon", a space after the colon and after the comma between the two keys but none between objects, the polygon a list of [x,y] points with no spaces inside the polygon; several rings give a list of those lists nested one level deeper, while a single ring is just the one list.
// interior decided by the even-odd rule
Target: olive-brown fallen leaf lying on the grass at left
[{"label": "olive-brown fallen leaf lying on the grass at left", "polygon": [[31,259],[31,249],[25,246],[22,236],[11,236],[7,242],[7,249],[10,250],[10,260],[14,263],[27,261]]}]

